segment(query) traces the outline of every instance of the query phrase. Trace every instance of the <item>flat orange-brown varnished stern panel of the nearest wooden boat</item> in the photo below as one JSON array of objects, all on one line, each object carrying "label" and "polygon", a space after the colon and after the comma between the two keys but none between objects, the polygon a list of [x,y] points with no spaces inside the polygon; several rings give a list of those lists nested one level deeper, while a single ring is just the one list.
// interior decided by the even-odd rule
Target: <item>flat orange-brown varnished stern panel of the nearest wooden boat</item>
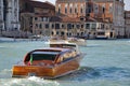
[{"label": "flat orange-brown varnished stern panel of the nearest wooden boat", "polygon": [[26,76],[39,76],[39,77],[53,77],[54,69],[37,66],[14,66],[12,69],[12,77],[26,77]]}]

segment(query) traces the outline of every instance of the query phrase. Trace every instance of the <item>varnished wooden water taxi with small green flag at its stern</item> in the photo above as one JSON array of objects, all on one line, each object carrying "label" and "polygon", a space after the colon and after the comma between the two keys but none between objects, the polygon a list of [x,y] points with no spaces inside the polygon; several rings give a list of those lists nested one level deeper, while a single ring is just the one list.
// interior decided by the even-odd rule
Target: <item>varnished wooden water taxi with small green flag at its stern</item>
[{"label": "varnished wooden water taxi with small green flag at its stern", "polygon": [[[54,44],[52,46],[55,46]],[[40,76],[55,78],[79,68],[82,55],[75,48],[48,47],[35,49],[24,58],[23,64],[16,64],[12,69],[13,77]]]}]

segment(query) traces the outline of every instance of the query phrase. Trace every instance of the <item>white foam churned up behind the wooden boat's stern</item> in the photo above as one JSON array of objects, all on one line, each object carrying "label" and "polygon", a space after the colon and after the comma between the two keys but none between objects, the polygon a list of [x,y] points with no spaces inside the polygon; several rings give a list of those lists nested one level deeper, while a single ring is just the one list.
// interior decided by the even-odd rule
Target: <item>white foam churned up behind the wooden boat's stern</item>
[{"label": "white foam churned up behind the wooden boat's stern", "polygon": [[37,76],[30,76],[27,78],[9,78],[1,80],[1,86],[60,86],[55,81],[43,80]]}]

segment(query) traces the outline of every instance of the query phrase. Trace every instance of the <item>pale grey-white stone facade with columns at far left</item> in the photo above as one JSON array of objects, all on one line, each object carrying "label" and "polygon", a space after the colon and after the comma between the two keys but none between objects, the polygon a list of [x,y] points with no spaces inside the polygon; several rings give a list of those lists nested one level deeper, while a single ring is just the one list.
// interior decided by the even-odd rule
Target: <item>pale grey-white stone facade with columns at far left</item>
[{"label": "pale grey-white stone facade with columns at far left", "polygon": [[0,0],[0,29],[20,30],[18,0]]}]

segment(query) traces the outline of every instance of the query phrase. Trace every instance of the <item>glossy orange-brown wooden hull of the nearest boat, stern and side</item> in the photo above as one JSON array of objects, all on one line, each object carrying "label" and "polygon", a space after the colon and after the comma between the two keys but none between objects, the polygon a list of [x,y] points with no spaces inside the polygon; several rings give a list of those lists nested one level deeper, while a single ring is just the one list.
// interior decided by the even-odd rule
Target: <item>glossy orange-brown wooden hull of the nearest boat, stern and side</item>
[{"label": "glossy orange-brown wooden hull of the nearest boat, stern and side", "polygon": [[26,77],[30,75],[55,78],[70,72],[76,71],[79,68],[79,61],[81,57],[76,57],[65,62],[55,64],[53,67],[48,66],[14,66],[12,69],[13,77]]}]

